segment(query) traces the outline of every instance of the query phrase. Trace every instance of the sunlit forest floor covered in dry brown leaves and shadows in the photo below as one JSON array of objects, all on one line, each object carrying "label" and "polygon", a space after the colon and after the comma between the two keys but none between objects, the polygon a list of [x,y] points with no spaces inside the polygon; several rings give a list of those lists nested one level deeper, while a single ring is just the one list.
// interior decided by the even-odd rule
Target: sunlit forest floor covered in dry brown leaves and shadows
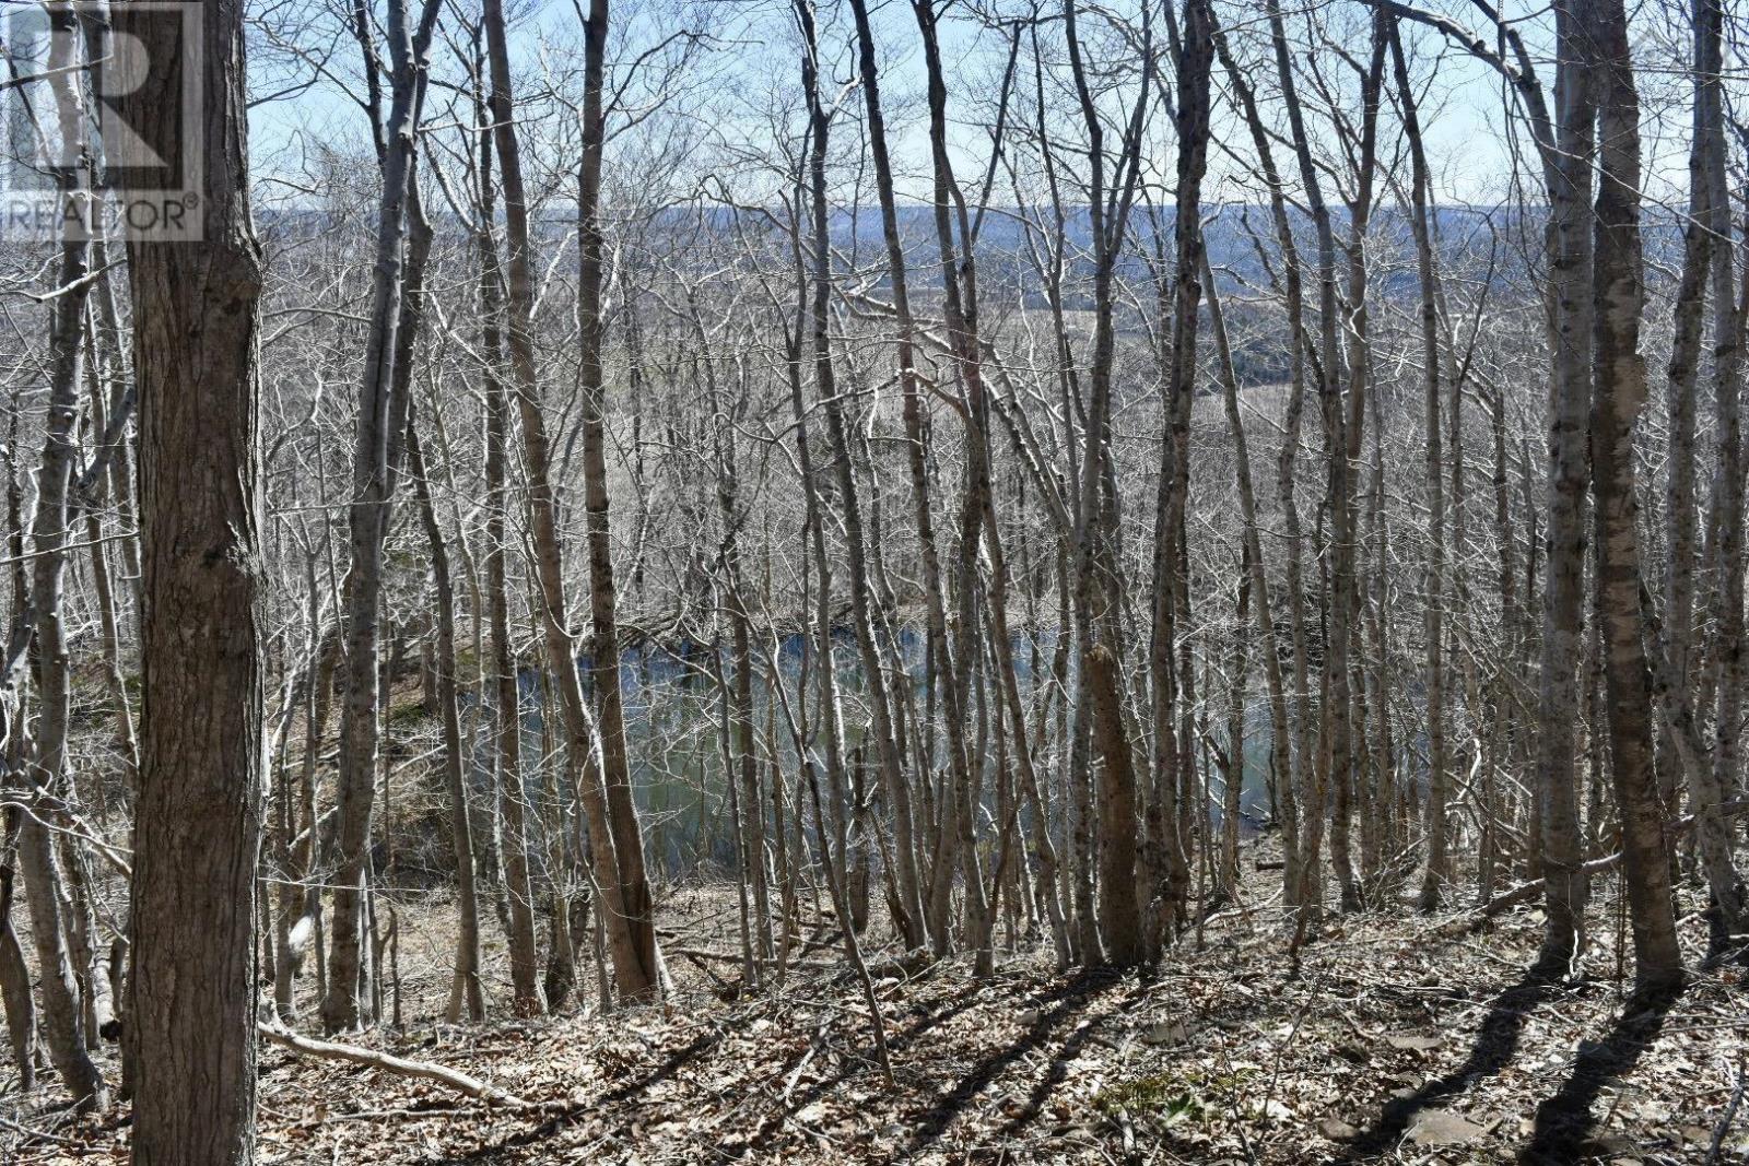
[{"label": "sunlit forest floor covered in dry brown leaves and shadows", "polygon": [[[1251,878],[1270,902],[1279,876]],[[1212,918],[1200,946],[1186,937],[1140,977],[1063,975],[1035,949],[981,984],[957,960],[888,972],[892,1086],[836,947],[806,951],[782,989],[731,1002],[714,979],[736,979],[735,963],[703,974],[679,954],[738,949],[724,888],[665,895],[670,1005],[477,1026],[434,1021],[449,913],[429,899],[402,907],[406,1024],[353,1040],[542,1105],[486,1108],[262,1045],[259,1161],[1749,1161],[1739,970],[1697,972],[1677,1000],[1625,1014],[1613,893],[1599,888],[1590,977],[1565,986],[1522,975],[1534,911],[1471,933],[1460,914],[1338,918],[1298,970],[1280,913],[1259,906]],[[1698,920],[1684,932],[1700,942]],[[502,963],[493,939],[488,965]],[[507,991],[490,988],[502,1010]],[[23,1103],[0,1073],[0,1163],[126,1161],[126,1107],[75,1122],[44,1080]]]}]

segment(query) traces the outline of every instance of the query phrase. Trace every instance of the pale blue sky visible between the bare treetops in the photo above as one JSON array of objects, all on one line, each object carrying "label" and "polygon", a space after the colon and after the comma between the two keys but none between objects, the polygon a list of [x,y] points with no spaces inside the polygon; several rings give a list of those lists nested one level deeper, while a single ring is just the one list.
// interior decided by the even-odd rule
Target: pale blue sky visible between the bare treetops
[{"label": "pale blue sky visible between the bare treetops", "polygon": [[[1474,24],[1473,7],[1462,0],[1422,0],[1427,7],[1441,10],[1455,19]],[[472,9],[472,3],[465,9]],[[355,84],[359,75],[359,51],[346,40],[334,38],[332,17],[310,17],[317,9],[304,9],[303,19],[282,9],[262,7],[261,16],[280,19],[308,52],[313,47],[332,42],[332,72]],[[1221,16],[1228,23],[1235,45],[1252,65],[1258,66],[1254,84],[1259,91],[1273,89],[1273,68],[1266,58],[1259,56],[1261,5],[1221,3]],[[1055,10],[1055,7],[1046,9]],[[1133,0],[1128,9],[1133,17]],[[1308,9],[1289,5],[1291,35],[1300,40],[1307,28],[1303,12]],[[1366,44],[1366,9],[1357,0],[1329,0],[1315,3],[1317,17],[1334,30],[1341,45],[1354,58],[1364,59]],[[1537,66],[1544,72],[1544,82],[1551,79],[1553,63],[1548,59],[1546,24],[1548,14],[1541,5],[1529,5],[1520,0],[1508,3],[1506,12],[1518,24],[1539,58]],[[715,149],[757,152],[768,145],[761,135],[770,135],[770,121],[778,114],[799,114],[799,84],[796,80],[798,38],[787,3],[782,0],[638,0],[621,2],[614,7],[616,26],[619,30],[619,49],[623,56],[631,56],[651,44],[665,38],[679,26],[708,24],[715,47],[700,58],[696,75],[687,79],[696,82],[675,108],[686,107],[693,117],[710,121],[708,133],[701,138],[701,149],[710,142]],[[885,0],[874,3],[876,37],[883,49],[883,98],[888,105],[888,121],[894,128],[894,152],[902,171],[911,175],[906,182],[908,194],[922,198],[925,194],[923,173],[925,140],[922,135],[920,94],[922,94],[922,52],[918,35],[911,17],[909,3],[904,0]],[[519,72],[519,96],[539,91],[547,79],[560,79],[577,68],[579,33],[577,16],[572,0],[528,0],[512,3],[512,42],[516,66]],[[852,23],[850,7],[845,0],[822,3],[822,37],[826,40],[827,72],[831,80],[848,82],[854,77],[854,58],[848,52]],[[1093,24],[1088,17],[1086,24]],[[1669,17],[1651,5],[1637,10],[1635,31],[1639,33],[1637,51],[1644,56],[1642,89],[1646,98],[1646,154],[1648,154],[1648,196],[1658,201],[1681,205],[1686,187],[1686,100],[1688,82],[1674,68],[1662,68],[1667,63],[1679,65],[1686,52],[1681,30],[1667,26]],[[324,31],[325,30],[325,31]],[[1090,45],[1097,28],[1086,31]],[[958,166],[964,173],[979,173],[988,150],[988,136],[983,126],[988,121],[988,100],[993,93],[993,79],[999,75],[1006,40],[999,31],[981,28],[969,19],[964,5],[948,9],[943,19],[943,56],[948,66],[948,108],[955,119],[953,135],[958,154]],[[1247,47],[1249,45],[1249,47]],[[1431,161],[1436,168],[1436,182],[1443,201],[1495,203],[1513,196],[1511,189],[1511,136],[1520,135],[1522,124],[1508,119],[1502,82],[1488,66],[1473,59],[1462,49],[1445,42],[1436,33],[1424,28],[1410,30],[1413,70],[1425,80],[1422,101],[1422,119],[1427,126],[1427,143]],[[280,89],[290,77],[308,75],[303,63],[287,68],[283,58],[276,59],[268,45],[268,38],[257,30],[252,42],[255,58],[252,59],[254,87],[257,93]],[[453,58],[444,47],[437,49],[437,75],[456,79]],[[1333,61],[1326,49],[1320,61]],[[1341,68],[1329,65],[1329,75],[1340,75]],[[1217,87],[1224,89],[1224,79],[1217,70]],[[1352,89],[1352,84],[1348,86]],[[861,114],[861,98],[850,87],[840,91],[850,103],[852,112]],[[791,105],[784,108],[785,101]],[[1315,110],[1308,110],[1313,122]],[[530,105],[528,114],[535,119],[532,136],[563,136],[567,128],[560,126],[567,114],[554,105]],[[1277,108],[1266,115],[1286,128],[1286,119]],[[1160,119],[1154,142],[1156,173],[1172,173],[1170,124]],[[1216,149],[1210,150],[1209,201],[1237,201],[1256,198],[1254,184],[1245,180],[1245,161],[1249,157],[1249,135],[1237,115],[1224,103],[1217,105],[1216,136],[1238,156]],[[278,196],[297,198],[303,185],[299,175],[308,177],[308,157],[318,149],[336,149],[343,154],[366,159],[367,136],[362,110],[346,96],[338,84],[320,82],[296,96],[257,105],[252,112],[252,152],[257,173],[273,175],[285,184],[275,184]],[[848,133],[848,131],[845,131]],[[1394,142],[1394,126],[1387,124],[1383,140]],[[561,152],[563,147],[558,147]],[[707,150],[710,152],[710,150]],[[714,156],[715,159],[715,156]],[[682,157],[680,164],[698,164],[700,170],[715,161]],[[1289,163],[1286,150],[1280,154],[1284,166]],[[612,154],[609,166],[612,168]],[[1289,166],[1291,170],[1291,166]],[[1000,189],[1000,187],[999,187]],[[273,191],[264,191],[266,198],[275,198]]]}]

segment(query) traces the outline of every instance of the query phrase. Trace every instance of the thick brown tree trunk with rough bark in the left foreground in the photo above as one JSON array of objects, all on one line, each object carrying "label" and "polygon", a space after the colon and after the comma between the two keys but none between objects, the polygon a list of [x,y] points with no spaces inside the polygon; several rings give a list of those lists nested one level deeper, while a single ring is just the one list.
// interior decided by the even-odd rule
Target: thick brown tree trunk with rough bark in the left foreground
[{"label": "thick brown tree trunk with rough bark in the left foreground", "polygon": [[[236,1166],[255,1138],[255,858],[261,848],[261,596],[255,302],[243,5],[205,5],[205,122],[178,126],[178,73],[128,98],[159,149],[203,161],[203,238],[128,245],[140,385],[143,734],[126,1038],[133,1161]],[[154,61],[161,14],[117,10]]]}]

